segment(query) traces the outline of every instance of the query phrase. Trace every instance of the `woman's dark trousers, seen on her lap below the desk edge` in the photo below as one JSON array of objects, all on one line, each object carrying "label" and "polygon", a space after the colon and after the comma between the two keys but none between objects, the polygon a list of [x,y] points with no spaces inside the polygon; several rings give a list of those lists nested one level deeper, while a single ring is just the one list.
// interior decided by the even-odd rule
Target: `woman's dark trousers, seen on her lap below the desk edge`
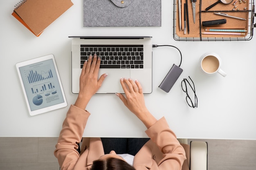
[{"label": "woman's dark trousers, seen on her lap below the desk edge", "polygon": [[128,153],[135,156],[149,138],[101,138],[104,153],[114,150],[117,154]]}]

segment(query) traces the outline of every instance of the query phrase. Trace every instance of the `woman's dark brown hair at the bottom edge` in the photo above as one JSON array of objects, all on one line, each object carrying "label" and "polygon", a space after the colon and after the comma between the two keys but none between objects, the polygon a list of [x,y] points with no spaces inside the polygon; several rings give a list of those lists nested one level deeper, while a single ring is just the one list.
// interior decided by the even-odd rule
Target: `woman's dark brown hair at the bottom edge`
[{"label": "woman's dark brown hair at the bottom edge", "polygon": [[93,161],[91,170],[135,170],[135,168],[121,159],[108,158]]}]

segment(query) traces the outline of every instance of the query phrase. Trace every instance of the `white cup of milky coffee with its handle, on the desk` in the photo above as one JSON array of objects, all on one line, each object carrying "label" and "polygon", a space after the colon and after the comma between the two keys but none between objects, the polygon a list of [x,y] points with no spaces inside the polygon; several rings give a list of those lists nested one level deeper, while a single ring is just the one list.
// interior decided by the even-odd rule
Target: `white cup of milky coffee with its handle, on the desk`
[{"label": "white cup of milky coffee with its handle, on the desk", "polygon": [[200,57],[200,67],[202,71],[208,75],[220,73],[220,75],[225,77],[227,74],[220,68],[221,64],[221,58],[216,53],[204,53]]}]

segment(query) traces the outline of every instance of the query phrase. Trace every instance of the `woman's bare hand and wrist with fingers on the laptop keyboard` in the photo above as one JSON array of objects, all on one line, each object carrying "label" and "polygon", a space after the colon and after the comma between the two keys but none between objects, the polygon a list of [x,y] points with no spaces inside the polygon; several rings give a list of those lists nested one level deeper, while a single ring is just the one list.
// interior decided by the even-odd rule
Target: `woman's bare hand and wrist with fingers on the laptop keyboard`
[{"label": "woman's bare hand and wrist with fingers on the laptop keyboard", "polygon": [[89,56],[85,61],[79,79],[79,94],[75,106],[85,109],[92,96],[99,90],[107,74],[101,75],[98,80],[99,66],[101,60],[96,54]]}]

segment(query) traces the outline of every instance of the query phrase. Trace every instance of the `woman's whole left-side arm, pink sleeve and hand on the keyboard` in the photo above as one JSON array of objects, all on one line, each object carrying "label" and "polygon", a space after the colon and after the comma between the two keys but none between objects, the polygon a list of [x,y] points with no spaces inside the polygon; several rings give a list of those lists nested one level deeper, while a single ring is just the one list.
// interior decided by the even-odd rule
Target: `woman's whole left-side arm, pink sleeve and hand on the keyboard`
[{"label": "woman's whole left-side arm, pink sleeve and hand on the keyboard", "polygon": [[83,65],[79,79],[79,95],[75,104],[71,105],[67,112],[54,151],[61,170],[72,170],[80,157],[76,150],[90,116],[90,113],[85,111],[85,108],[107,76],[103,74],[98,80],[99,66],[100,58],[97,58],[96,55],[94,57],[90,55],[88,62],[86,61]]}]

